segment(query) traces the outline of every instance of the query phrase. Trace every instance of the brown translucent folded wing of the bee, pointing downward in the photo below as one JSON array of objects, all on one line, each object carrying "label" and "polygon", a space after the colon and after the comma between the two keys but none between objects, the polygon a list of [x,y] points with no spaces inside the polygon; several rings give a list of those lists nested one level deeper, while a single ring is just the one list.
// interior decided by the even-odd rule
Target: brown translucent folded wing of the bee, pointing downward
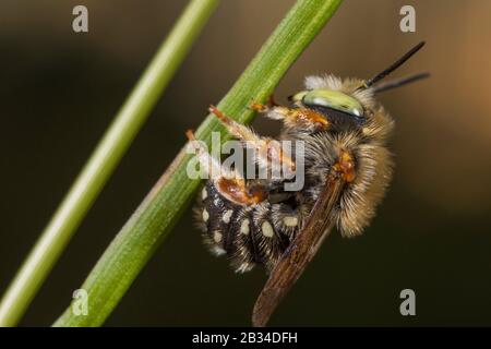
[{"label": "brown translucent folded wing of the bee, pointing downward", "polygon": [[331,232],[334,226],[331,213],[339,200],[344,184],[345,181],[340,177],[330,176],[327,179],[306,226],[282,255],[258,297],[252,313],[253,326],[266,325],[276,306],[302,275]]}]

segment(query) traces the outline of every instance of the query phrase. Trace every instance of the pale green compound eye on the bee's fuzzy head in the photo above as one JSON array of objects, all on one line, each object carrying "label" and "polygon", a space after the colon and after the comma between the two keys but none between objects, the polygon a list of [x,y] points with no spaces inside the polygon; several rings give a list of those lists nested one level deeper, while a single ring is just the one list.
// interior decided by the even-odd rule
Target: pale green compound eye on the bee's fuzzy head
[{"label": "pale green compound eye on the bee's fuzzy head", "polygon": [[355,117],[363,116],[363,107],[355,98],[333,89],[311,89],[296,94],[292,99],[307,106],[326,107],[339,110]]}]

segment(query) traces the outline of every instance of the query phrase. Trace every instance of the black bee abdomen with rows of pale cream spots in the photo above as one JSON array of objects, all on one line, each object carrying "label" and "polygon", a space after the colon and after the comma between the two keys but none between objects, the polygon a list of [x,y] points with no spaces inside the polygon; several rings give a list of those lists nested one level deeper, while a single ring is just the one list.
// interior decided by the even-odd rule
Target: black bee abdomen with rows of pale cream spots
[{"label": "black bee abdomen with rows of pale cream spots", "polygon": [[241,206],[227,201],[208,181],[202,189],[196,218],[212,253],[226,254],[238,273],[264,264],[271,270],[288,248],[300,225],[286,204],[264,201]]}]

